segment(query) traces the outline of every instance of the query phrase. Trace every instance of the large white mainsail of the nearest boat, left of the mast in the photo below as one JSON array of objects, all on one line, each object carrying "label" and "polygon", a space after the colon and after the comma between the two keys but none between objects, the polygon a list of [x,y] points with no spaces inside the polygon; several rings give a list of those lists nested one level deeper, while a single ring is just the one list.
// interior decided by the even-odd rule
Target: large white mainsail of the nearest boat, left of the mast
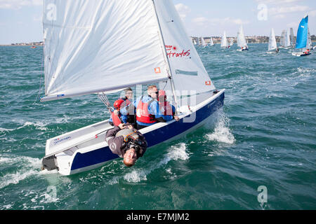
[{"label": "large white mainsail of the nearest boat, left of the mast", "polygon": [[44,0],[42,101],[169,77],[152,1]]}]

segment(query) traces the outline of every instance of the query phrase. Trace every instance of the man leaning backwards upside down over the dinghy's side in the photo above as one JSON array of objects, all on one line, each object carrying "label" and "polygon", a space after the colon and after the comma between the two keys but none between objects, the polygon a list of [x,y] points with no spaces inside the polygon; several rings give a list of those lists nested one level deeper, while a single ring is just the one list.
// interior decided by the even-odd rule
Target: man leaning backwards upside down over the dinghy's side
[{"label": "man leaning backwards upside down over the dinghy's side", "polygon": [[108,130],[105,141],[112,153],[123,158],[124,165],[135,165],[138,158],[143,157],[147,149],[147,141],[143,134],[133,128],[133,125],[119,124]]}]

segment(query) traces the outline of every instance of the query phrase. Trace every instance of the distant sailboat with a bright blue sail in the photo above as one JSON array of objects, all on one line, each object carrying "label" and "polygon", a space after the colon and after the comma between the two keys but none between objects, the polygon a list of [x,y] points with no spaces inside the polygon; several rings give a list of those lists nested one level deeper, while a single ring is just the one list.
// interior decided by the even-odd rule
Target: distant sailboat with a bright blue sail
[{"label": "distant sailboat with a bright blue sail", "polygon": [[293,52],[292,55],[300,57],[310,55],[310,49],[308,46],[308,15],[306,15],[298,25],[297,37],[296,37],[296,49],[301,49],[301,52]]}]

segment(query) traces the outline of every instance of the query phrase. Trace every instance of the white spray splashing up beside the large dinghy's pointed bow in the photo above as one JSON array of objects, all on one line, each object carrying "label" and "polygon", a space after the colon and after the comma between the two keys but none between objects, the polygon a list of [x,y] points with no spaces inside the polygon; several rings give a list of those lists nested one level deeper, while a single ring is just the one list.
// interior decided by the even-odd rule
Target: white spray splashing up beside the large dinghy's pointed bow
[{"label": "white spray splashing up beside the large dinghy's pointed bow", "polygon": [[223,142],[225,144],[234,144],[235,137],[230,132],[229,128],[229,118],[225,116],[225,114],[221,114],[218,122],[216,123],[216,127],[214,132],[211,134],[206,134],[207,139],[210,141],[218,141]]}]

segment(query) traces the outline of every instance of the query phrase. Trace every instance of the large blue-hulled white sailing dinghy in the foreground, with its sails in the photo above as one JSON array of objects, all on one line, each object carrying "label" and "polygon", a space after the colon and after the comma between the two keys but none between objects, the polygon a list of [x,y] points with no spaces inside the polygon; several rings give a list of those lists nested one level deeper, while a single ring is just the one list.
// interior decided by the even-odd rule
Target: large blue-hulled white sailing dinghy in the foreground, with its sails
[{"label": "large blue-hulled white sailing dinghy in the foreground, with its sails", "polygon": [[[216,90],[173,1],[44,0],[43,8],[41,102],[106,97],[126,87],[159,83],[180,120],[141,129],[147,151],[201,127],[223,106],[225,90]],[[48,139],[42,168],[70,175],[118,158],[105,141],[111,128],[103,120]]]}]

